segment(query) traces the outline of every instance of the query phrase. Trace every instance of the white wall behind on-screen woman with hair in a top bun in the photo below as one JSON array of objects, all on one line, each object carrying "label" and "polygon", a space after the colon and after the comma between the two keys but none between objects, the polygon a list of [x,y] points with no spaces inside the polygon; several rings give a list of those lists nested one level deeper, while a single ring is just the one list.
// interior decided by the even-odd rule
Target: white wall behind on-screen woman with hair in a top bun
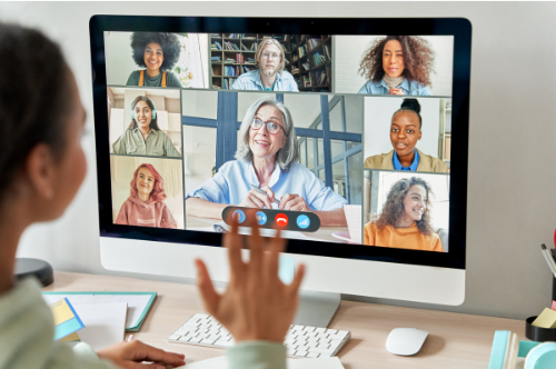
[{"label": "white wall behind on-screen woman with hair in a top bun", "polygon": [[[417,149],[438,158],[438,139],[440,129],[440,99],[417,99],[423,118],[421,139]],[[399,109],[404,98],[374,97],[365,98],[365,139],[364,157],[368,158],[394,150],[390,141],[391,116]]]}]

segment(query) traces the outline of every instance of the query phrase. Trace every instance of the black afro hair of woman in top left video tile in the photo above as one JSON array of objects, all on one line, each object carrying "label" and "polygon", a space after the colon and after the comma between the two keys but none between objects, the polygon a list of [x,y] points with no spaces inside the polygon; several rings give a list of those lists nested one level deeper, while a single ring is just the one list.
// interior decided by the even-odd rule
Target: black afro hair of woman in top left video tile
[{"label": "black afro hair of woman in top left video tile", "polygon": [[131,34],[131,50],[136,64],[141,68],[147,68],[145,64],[145,48],[151,42],[156,42],[162,48],[165,61],[162,61],[160,70],[171,70],[179,60],[179,52],[181,49],[178,37],[173,33],[133,32]]}]

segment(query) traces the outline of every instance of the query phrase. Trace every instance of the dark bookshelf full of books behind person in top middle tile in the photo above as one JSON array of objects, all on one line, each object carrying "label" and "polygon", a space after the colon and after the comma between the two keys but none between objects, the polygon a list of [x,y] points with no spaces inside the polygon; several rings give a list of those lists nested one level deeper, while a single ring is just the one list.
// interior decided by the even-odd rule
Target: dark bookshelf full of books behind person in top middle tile
[{"label": "dark bookshelf full of books behind person in top middle tile", "polygon": [[212,88],[229,89],[238,76],[256,69],[256,46],[267,37],[282,44],[286,70],[294,76],[299,91],[332,91],[332,41],[324,34],[210,33]]}]

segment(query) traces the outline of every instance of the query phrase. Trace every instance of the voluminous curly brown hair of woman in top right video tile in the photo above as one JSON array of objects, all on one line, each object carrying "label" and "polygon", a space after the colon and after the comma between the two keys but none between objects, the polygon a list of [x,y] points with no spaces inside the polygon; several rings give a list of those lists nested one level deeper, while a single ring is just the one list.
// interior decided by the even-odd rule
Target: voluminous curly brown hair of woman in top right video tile
[{"label": "voluminous curly brown hair of woman in top right video tile", "polygon": [[359,74],[374,82],[383,79],[385,74],[383,51],[386,42],[390,40],[397,40],[401,43],[405,66],[403,76],[423,86],[433,86],[429,74],[434,72],[435,52],[430,49],[427,40],[418,36],[387,36],[384,39],[375,40],[361,60]]}]

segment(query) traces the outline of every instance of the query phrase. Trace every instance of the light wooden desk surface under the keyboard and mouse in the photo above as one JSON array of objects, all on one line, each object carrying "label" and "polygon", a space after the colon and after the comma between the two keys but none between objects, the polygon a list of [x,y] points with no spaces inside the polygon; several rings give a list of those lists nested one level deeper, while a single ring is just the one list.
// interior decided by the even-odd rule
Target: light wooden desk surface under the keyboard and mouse
[{"label": "light wooden desk surface under the keyboard and mouse", "polygon": [[[168,343],[166,338],[196,312],[202,312],[197,288],[122,277],[56,272],[47,291],[157,291],[158,297],[139,332],[151,346],[182,352],[188,363],[224,356],[224,349]],[[430,332],[421,351],[398,357],[386,351],[391,329],[414,327]],[[525,339],[520,320],[454,312],[398,308],[341,301],[329,328],[350,330],[351,340],[340,351],[346,369],[379,368],[487,368],[495,330],[512,330]]]}]

